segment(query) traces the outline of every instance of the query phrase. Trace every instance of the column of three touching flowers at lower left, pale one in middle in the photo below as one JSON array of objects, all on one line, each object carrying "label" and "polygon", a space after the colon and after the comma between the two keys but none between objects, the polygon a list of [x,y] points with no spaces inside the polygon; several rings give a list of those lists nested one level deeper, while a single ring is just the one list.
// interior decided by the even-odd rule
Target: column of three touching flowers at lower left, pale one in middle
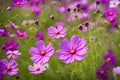
[{"label": "column of three touching flowers at lower left, pale one in middle", "polygon": [[4,50],[8,55],[7,58],[9,59],[2,59],[0,60],[0,74],[8,74],[9,76],[16,75],[18,72],[18,63],[15,61],[21,53],[18,51],[18,43],[14,40],[10,40],[5,43]]}]

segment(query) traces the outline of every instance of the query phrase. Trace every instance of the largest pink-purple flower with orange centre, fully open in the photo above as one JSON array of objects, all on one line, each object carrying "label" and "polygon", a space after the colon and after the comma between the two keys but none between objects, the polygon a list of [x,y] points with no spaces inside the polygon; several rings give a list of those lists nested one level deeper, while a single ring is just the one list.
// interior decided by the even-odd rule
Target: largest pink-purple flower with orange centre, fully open
[{"label": "largest pink-purple flower with orange centre, fully open", "polygon": [[64,39],[59,44],[61,50],[57,50],[57,56],[64,63],[72,63],[74,60],[81,61],[88,51],[86,40],[78,35],[73,35],[70,42]]}]

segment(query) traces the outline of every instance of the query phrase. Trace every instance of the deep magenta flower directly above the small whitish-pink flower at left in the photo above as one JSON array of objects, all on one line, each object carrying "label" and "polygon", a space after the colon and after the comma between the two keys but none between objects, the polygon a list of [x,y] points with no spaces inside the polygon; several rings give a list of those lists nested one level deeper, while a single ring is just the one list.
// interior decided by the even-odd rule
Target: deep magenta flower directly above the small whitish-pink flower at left
[{"label": "deep magenta flower directly above the small whitish-pink flower at left", "polygon": [[8,50],[14,51],[17,49],[18,49],[18,43],[16,43],[14,40],[10,40],[10,41],[5,43],[5,50],[6,51],[8,51]]}]

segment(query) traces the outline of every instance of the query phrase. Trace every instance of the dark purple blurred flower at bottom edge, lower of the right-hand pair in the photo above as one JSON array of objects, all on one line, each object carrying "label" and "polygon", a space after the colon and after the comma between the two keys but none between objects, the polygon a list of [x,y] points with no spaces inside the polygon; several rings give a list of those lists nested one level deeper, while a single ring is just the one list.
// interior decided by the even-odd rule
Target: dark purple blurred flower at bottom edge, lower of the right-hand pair
[{"label": "dark purple blurred flower at bottom edge, lower of the right-hand pair", "polygon": [[100,80],[108,80],[108,66],[106,65],[102,65],[100,67],[100,69],[96,70],[96,76],[100,79]]}]

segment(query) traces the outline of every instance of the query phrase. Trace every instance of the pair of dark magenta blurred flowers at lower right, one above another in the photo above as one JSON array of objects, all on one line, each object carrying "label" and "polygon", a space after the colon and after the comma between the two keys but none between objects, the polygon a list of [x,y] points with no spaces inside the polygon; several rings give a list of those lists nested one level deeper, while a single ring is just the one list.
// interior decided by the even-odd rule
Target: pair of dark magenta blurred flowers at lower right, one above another
[{"label": "pair of dark magenta blurred flowers at lower right, one above another", "polygon": [[100,69],[96,71],[96,75],[99,79],[108,80],[108,69],[110,66],[115,66],[116,57],[111,50],[108,50],[106,54],[104,54],[104,62]]}]

